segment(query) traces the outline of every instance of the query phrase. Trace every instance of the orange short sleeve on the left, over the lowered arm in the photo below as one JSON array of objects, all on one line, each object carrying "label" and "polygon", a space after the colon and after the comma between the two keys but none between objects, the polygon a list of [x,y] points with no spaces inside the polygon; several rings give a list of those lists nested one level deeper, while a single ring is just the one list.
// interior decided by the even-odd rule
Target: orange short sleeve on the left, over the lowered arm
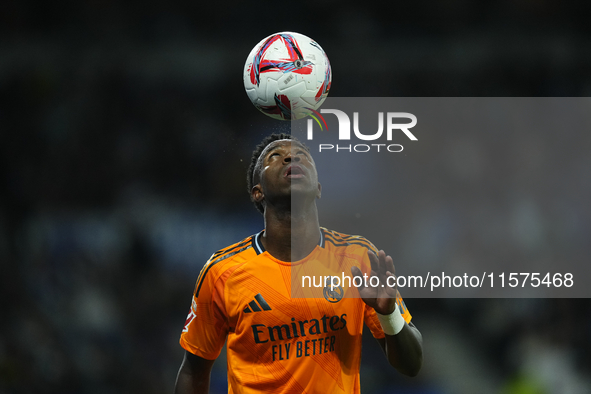
[{"label": "orange short sleeve on the left, over the lowered arm", "polygon": [[181,333],[180,344],[196,356],[214,360],[228,335],[224,286],[228,275],[203,267],[195,285],[191,309]]}]

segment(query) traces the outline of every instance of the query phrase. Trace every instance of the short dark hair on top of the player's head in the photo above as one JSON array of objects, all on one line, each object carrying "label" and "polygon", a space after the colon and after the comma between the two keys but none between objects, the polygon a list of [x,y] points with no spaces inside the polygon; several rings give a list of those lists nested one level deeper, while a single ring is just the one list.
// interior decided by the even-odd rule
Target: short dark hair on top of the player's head
[{"label": "short dark hair on top of the player's head", "polygon": [[[288,141],[286,141],[286,140],[288,140]],[[304,145],[302,142],[300,142],[297,138],[293,137],[290,134],[286,134],[286,133],[271,134],[271,135],[267,136],[266,138],[264,138],[261,141],[261,143],[259,145],[257,145],[255,150],[252,152],[250,166],[248,167],[248,171],[246,174],[246,184],[247,184],[247,188],[248,188],[248,193],[250,194],[251,200],[254,203],[255,207],[261,213],[264,213],[263,202],[257,201],[253,197],[252,191],[255,186],[257,186],[261,183],[261,172],[264,168],[263,163],[265,161],[265,156],[267,156],[267,154],[270,153],[270,150],[275,150],[277,148],[281,148],[281,146],[284,146],[283,149],[286,149],[285,147],[289,147],[288,149],[290,151],[294,151],[294,149],[291,148],[292,144],[296,144],[296,146],[298,148],[301,148],[303,151],[305,151],[305,154],[309,158],[309,161],[313,167],[314,176],[317,178],[316,167],[315,167],[314,161],[312,159],[312,156],[310,155],[310,150],[306,145]],[[295,160],[299,160],[299,158],[297,158],[297,155],[296,155]],[[316,179],[316,183],[317,183],[317,179]],[[318,186],[318,188],[319,188],[319,186]]]}]

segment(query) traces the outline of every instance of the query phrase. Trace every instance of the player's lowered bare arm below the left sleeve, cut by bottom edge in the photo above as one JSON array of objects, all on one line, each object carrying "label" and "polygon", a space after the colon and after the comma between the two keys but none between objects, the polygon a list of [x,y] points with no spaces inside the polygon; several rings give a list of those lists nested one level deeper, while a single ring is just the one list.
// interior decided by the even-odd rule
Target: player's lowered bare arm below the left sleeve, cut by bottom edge
[{"label": "player's lowered bare arm below the left sleeve, cut by bottom edge", "polygon": [[175,394],[209,393],[209,377],[215,360],[206,360],[190,352],[185,358],[176,377]]}]

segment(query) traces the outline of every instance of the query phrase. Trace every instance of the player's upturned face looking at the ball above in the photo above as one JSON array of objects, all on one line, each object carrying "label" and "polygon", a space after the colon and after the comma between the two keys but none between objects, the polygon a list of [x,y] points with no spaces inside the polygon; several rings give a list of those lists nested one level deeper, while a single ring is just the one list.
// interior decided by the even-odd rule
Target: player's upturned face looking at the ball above
[{"label": "player's upturned face looking at the ball above", "polygon": [[320,198],[316,164],[298,142],[278,140],[270,143],[261,154],[257,167],[260,177],[252,190],[255,201],[291,197],[314,201]]}]

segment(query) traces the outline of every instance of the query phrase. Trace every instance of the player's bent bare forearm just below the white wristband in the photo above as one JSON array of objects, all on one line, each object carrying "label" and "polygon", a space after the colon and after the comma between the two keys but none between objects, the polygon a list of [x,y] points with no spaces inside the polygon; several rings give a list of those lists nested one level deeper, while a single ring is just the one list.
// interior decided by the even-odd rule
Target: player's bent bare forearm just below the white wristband
[{"label": "player's bent bare forearm just below the white wristband", "polygon": [[400,373],[416,376],[423,365],[423,337],[419,330],[405,324],[396,335],[386,335],[384,350],[388,362]]}]

